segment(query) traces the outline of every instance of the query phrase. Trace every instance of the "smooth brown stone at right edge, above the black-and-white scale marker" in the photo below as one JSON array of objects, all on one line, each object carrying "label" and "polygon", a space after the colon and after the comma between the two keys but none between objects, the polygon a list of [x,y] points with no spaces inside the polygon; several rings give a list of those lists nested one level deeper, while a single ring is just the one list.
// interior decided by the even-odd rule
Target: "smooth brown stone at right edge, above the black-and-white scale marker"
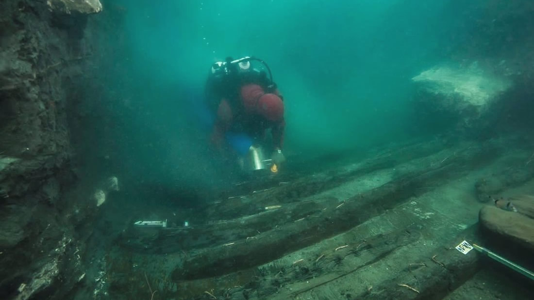
[{"label": "smooth brown stone at right edge, above the black-and-white scale marker", "polygon": [[479,218],[484,229],[502,240],[534,249],[534,219],[494,206],[484,206]]}]

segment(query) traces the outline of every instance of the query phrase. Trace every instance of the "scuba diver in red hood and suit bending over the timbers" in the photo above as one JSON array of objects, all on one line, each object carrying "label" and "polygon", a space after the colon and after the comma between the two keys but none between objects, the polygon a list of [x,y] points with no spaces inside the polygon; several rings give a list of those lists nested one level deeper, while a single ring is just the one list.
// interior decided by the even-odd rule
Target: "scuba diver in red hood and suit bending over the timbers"
[{"label": "scuba diver in red hood and suit bending over the timbers", "polygon": [[[260,66],[255,66],[258,62]],[[211,144],[244,171],[278,172],[285,161],[282,99],[264,61],[246,56],[214,63],[206,83],[207,104],[215,115]],[[263,156],[263,149],[271,151],[270,159]]]}]

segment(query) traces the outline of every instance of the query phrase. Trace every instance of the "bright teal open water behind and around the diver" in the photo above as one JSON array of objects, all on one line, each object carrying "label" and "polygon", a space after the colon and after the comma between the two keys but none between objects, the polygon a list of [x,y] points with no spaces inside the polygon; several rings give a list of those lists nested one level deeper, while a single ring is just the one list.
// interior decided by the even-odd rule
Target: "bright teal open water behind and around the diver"
[{"label": "bright teal open water behind and around the diver", "polygon": [[103,129],[100,155],[121,157],[131,176],[171,173],[192,184],[210,181],[199,103],[213,62],[268,62],[285,96],[286,156],[364,152],[439,132],[411,121],[411,78],[444,60],[459,63],[454,55],[482,14],[480,1],[103,4],[101,16],[114,21],[95,45],[108,50],[98,66],[107,93],[97,105],[113,129]]}]

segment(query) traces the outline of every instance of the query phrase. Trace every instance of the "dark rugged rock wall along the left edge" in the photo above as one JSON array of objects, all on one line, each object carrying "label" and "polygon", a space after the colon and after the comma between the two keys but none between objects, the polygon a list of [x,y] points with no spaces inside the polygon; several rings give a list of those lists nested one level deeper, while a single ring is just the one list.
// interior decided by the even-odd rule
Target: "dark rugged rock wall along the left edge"
[{"label": "dark rugged rock wall along the left edge", "polygon": [[92,55],[88,13],[101,9],[98,0],[0,3],[0,298],[61,298],[84,278],[75,226],[96,205],[66,194],[76,181],[66,107]]}]

